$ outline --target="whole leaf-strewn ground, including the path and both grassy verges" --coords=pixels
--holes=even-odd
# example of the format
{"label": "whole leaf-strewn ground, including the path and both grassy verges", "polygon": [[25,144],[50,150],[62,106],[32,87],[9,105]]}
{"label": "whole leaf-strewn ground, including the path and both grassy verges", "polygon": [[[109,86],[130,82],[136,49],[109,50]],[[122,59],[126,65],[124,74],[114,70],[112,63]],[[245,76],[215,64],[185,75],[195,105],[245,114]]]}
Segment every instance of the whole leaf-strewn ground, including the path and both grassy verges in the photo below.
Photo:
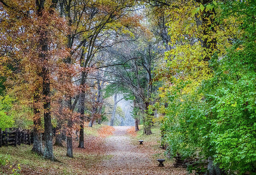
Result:
{"label": "whole leaf-strewn ground, including the path and both grassy verges", "polygon": [[[54,146],[54,155],[61,161],[45,160],[31,152],[32,146],[21,145],[0,148],[0,174],[93,174],[93,175],[185,175],[183,168],[175,168],[171,160],[158,167],[157,158],[163,158],[159,146],[159,129],[153,128],[151,136],[128,134],[129,127],[94,125],[85,128],[85,149],[77,148],[74,141],[74,158],[66,156],[66,147]],[[131,130],[131,129],[130,129]],[[156,137],[157,136],[157,137]],[[144,144],[138,144],[138,138]],[[7,160],[2,163],[1,160]],[[3,164],[3,165],[1,165]],[[5,165],[6,164],[6,165]],[[21,170],[18,165],[20,164]],[[12,172],[13,171],[13,172]]]}

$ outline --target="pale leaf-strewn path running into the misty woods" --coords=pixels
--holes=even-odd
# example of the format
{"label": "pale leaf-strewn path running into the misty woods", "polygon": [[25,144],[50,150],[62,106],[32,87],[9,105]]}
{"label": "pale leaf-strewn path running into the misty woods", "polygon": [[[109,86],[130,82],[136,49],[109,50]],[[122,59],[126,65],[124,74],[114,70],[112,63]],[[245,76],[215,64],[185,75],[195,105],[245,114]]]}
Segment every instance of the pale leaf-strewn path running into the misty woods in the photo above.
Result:
{"label": "pale leaf-strewn path running into the misty woods", "polygon": [[[112,136],[106,138],[106,147],[109,151],[106,155],[111,158],[103,160],[94,166],[94,174],[137,175],[137,174],[186,174],[184,169],[173,166],[158,167],[157,160],[153,160],[150,154],[141,152],[131,143],[127,135],[127,126],[116,126]],[[142,145],[143,146],[143,145]]]}

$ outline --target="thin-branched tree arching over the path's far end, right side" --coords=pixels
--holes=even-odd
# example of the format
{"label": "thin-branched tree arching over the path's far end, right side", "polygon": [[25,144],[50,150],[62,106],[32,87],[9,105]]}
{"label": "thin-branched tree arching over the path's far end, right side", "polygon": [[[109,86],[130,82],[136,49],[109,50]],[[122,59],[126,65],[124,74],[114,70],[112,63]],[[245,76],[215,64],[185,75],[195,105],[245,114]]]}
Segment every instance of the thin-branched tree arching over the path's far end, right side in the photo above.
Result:
{"label": "thin-branched tree arching over the path's far end, right side", "polygon": [[153,87],[153,67],[156,60],[162,57],[162,52],[159,52],[155,38],[140,32],[136,33],[135,41],[123,42],[106,50],[114,58],[113,66],[106,70],[106,81],[126,87],[127,92],[138,99],[136,104],[143,116],[144,134],[151,134],[153,112],[149,106],[152,105],[151,94],[156,90]]}

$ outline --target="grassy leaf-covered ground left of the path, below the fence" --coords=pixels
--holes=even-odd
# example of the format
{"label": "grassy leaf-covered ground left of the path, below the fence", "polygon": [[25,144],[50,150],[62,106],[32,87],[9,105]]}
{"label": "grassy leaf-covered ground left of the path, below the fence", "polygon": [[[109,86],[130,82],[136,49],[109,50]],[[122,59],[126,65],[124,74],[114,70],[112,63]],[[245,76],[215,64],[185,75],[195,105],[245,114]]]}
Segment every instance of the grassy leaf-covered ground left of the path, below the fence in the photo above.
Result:
{"label": "grassy leaf-covered ground left of the path, below the fence", "polygon": [[[17,147],[2,147],[0,148],[0,174],[15,174],[15,172],[21,174],[86,174],[96,163],[111,158],[104,155],[106,151],[104,139],[99,137],[104,133],[105,128],[109,130],[106,125],[85,128],[85,149],[77,148],[78,142],[74,141],[74,158],[66,156],[66,147],[54,146],[54,156],[61,163],[45,160],[32,153],[32,146],[22,144]],[[3,165],[1,165],[1,160],[4,160]]]}

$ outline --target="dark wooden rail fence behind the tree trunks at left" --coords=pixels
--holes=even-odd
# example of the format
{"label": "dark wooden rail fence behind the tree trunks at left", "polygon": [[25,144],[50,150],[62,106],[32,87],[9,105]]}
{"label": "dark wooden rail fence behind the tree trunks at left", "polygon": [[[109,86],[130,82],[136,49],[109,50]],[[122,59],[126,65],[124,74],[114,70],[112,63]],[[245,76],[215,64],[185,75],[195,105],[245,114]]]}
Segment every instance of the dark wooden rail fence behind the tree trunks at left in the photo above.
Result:
{"label": "dark wooden rail fence behind the tree trunks at left", "polygon": [[[53,136],[56,129],[53,128]],[[44,133],[42,133],[44,140]],[[34,143],[34,132],[21,128],[6,128],[4,131],[0,129],[0,147],[2,146],[17,146],[22,144],[31,145]]]}

